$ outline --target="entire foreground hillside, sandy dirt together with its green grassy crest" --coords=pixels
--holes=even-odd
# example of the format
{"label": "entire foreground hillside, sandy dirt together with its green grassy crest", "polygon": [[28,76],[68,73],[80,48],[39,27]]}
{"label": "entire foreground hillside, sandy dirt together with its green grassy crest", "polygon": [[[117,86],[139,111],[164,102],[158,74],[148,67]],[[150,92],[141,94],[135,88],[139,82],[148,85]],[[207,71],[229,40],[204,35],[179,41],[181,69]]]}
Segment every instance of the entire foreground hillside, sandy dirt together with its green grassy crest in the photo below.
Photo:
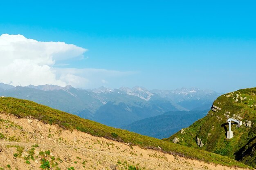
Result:
{"label": "entire foreground hillside, sandy dirt together with its green grassy crest", "polygon": [[218,154],[107,127],[31,101],[0,98],[0,120],[2,169],[250,168]]}

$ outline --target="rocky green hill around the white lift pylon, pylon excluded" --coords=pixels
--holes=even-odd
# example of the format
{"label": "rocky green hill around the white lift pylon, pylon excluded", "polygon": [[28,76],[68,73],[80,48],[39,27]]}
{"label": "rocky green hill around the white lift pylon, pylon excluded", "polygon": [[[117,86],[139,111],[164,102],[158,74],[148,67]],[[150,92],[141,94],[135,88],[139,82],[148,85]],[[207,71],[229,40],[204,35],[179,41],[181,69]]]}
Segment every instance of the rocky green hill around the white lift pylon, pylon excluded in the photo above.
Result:
{"label": "rocky green hill around the white lift pylon, pylon excluded", "polygon": [[[240,128],[236,128],[237,123],[232,123],[232,139],[226,137],[229,118],[243,121]],[[207,116],[184,132],[177,132],[164,140],[172,141],[174,137],[180,139],[181,145],[201,147],[202,150],[228,156],[256,168],[256,88],[241,89],[218,97]]]}

